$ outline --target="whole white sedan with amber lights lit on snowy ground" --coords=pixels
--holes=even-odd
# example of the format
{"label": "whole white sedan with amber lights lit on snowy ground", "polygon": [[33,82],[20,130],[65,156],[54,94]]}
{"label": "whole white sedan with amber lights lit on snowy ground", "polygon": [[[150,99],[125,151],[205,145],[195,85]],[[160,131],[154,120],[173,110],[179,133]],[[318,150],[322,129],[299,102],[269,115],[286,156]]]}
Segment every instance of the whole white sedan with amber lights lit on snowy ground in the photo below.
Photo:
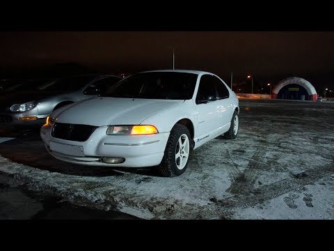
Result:
{"label": "whole white sedan with amber lights lit on snowy ground", "polygon": [[239,100],[212,73],[137,73],[103,96],[56,109],[40,136],[55,158],[81,165],[159,166],[179,176],[191,151],[218,135],[235,139]]}

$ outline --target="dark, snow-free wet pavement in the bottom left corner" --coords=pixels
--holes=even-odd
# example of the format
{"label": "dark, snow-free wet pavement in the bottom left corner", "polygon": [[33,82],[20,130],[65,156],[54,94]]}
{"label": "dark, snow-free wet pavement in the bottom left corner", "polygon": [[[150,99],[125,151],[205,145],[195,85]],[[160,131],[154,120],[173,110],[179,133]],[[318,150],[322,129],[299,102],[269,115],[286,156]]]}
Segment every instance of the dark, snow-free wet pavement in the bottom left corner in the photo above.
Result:
{"label": "dark, snow-free wet pavement in the bottom left corner", "polygon": [[61,197],[26,189],[24,183],[0,173],[0,220],[136,220],[116,211],[77,206]]}

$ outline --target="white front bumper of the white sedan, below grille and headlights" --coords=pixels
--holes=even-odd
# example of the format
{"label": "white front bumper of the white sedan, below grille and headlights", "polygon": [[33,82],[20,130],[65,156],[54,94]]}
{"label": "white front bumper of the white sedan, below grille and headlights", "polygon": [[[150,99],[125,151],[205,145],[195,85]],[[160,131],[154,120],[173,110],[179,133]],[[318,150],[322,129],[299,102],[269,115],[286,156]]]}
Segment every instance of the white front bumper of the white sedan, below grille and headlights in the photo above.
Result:
{"label": "white front bumper of the white sedan, below grille and headlights", "polygon": [[[86,142],[74,142],[52,137],[51,126],[45,125],[40,129],[40,137],[54,158],[74,164],[109,167],[152,167],[160,164],[169,132],[154,135],[106,135],[107,128],[97,128]],[[110,164],[103,162],[103,157],[125,158],[125,162]]]}

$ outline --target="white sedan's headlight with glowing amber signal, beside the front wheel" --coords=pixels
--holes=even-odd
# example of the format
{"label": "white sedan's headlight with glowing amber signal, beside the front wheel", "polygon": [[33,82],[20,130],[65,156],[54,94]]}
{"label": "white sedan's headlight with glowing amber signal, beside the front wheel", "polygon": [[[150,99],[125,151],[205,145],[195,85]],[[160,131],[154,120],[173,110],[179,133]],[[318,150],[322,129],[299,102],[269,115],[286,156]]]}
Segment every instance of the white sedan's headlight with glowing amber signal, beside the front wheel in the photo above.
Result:
{"label": "white sedan's headlight with glowing amber signal, beside the front wheel", "polygon": [[107,135],[150,135],[158,133],[157,128],[150,125],[144,126],[109,126]]}

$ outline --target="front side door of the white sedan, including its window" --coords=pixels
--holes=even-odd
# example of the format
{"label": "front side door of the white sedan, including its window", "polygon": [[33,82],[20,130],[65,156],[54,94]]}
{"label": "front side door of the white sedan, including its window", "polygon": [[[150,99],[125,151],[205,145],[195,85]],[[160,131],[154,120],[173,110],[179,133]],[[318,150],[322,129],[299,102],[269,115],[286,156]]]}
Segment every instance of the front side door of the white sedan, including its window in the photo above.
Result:
{"label": "front side door of the white sedan, including its window", "polygon": [[219,104],[216,100],[216,88],[211,75],[202,75],[196,95],[196,110],[198,112],[198,125],[195,142],[200,145],[216,137],[220,120],[218,118]]}

